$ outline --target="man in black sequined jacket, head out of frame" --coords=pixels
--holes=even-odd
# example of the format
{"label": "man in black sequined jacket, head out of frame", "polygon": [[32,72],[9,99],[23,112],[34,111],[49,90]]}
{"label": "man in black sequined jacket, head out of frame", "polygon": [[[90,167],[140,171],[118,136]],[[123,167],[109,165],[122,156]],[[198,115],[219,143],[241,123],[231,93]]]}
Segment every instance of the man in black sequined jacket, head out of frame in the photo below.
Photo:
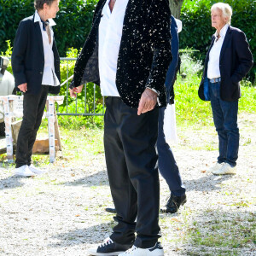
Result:
{"label": "man in black sequined jacket, head out of frame", "polygon": [[168,0],[100,0],[76,62],[71,96],[87,82],[107,96],[104,147],[118,222],[91,255],[122,255],[132,246],[132,255],[164,254],[155,143],[172,61],[170,18]]}

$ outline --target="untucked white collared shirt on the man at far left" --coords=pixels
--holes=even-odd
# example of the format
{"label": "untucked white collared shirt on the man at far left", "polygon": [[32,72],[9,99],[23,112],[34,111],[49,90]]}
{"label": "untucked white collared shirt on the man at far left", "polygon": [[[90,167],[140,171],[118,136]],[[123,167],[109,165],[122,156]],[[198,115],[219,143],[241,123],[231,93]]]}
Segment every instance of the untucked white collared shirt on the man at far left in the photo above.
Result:
{"label": "untucked white collared shirt on the man at far left", "polygon": [[49,44],[48,34],[43,29],[43,23],[41,22],[41,18],[38,15],[37,11],[35,13],[34,22],[39,22],[39,26],[41,28],[41,33],[42,33],[43,46],[44,46],[44,73],[43,73],[42,84],[51,85],[51,86],[60,85],[60,81],[55,74],[55,57],[52,50],[54,32],[51,26],[55,26],[56,23],[54,20],[49,19],[49,31],[50,31],[50,44]]}

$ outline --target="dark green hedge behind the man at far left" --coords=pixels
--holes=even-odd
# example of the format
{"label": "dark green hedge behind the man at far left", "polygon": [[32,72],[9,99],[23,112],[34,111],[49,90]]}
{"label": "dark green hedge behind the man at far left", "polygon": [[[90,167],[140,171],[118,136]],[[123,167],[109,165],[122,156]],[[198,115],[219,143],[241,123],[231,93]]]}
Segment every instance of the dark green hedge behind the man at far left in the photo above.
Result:
{"label": "dark green hedge behind the man at far left", "polygon": [[[97,0],[61,0],[55,22],[55,39],[61,56],[67,49],[80,49],[90,31]],[[32,0],[0,0],[0,52],[7,49],[6,40],[13,44],[20,20],[34,13]]]}

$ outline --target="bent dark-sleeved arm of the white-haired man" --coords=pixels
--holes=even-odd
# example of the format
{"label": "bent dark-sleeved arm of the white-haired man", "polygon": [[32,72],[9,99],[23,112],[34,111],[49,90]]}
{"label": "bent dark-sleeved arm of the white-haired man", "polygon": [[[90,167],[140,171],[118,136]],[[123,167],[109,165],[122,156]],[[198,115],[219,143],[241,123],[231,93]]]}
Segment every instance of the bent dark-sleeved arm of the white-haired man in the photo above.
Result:
{"label": "bent dark-sleeved arm of the white-haired man", "polygon": [[241,81],[253,67],[253,55],[249,49],[247,38],[243,32],[236,32],[235,49],[239,59],[239,65],[231,76],[231,80],[235,83]]}

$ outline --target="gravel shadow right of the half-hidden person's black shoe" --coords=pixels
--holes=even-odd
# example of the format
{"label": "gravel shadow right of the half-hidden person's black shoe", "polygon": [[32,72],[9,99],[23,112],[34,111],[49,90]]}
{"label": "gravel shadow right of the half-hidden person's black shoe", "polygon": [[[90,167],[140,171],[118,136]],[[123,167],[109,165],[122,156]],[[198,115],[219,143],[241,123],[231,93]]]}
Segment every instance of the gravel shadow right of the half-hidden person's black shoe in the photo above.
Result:
{"label": "gravel shadow right of the half-hidden person's black shoe", "polygon": [[219,184],[232,177],[232,175],[215,176],[210,174],[198,179],[183,180],[183,183],[187,191],[212,191],[220,190]]}

